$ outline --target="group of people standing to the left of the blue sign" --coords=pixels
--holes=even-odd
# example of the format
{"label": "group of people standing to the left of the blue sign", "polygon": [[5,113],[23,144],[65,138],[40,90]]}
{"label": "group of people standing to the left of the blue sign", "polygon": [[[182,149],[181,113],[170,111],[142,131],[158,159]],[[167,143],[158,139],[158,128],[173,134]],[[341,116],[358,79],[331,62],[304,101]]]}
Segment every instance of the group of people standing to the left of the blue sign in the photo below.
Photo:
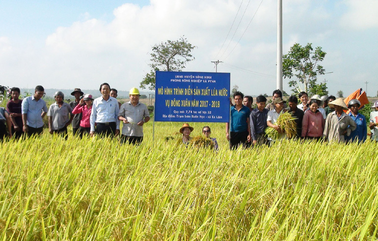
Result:
{"label": "group of people standing to the left of the blue sign", "polygon": [[[64,94],[57,91],[55,102],[47,109],[42,99],[45,89],[38,85],[34,94],[20,100],[20,89],[11,89],[11,99],[6,109],[0,107],[0,139],[9,135],[20,138],[24,135],[43,133],[43,118],[47,114],[50,134],[60,134],[67,139],[67,127],[72,125],[73,135],[93,136],[95,133],[104,136],[120,134],[120,121],[123,122],[121,142],[139,144],[143,141],[143,124],[150,120],[147,106],[139,102],[140,93],[132,88],[130,101],[121,105],[116,99],[117,90],[111,89],[108,83],[100,86],[101,97],[93,99],[76,88],[71,95],[75,100],[64,102]],[[8,127],[8,132],[6,126]]]}

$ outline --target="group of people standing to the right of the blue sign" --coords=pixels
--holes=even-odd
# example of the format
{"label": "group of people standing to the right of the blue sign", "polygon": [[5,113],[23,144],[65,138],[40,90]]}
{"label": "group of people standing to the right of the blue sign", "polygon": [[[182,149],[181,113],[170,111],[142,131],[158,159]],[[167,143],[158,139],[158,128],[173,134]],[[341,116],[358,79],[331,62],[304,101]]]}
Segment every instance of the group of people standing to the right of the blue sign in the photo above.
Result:
{"label": "group of people standing to the right of the blue sign", "polygon": [[[265,133],[267,127],[275,129],[280,139],[286,138],[284,128],[277,124],[278,117],[285,112],[295,117],[296,138],[329,142],[364,142],[367,138],[366,119],[358,112],[361,103],[356,99],[346,105],[342,98],[319,95],[309,98],[306,92],[300,92],[298,97],[290,96],[286,106],[282,92],[274,90],[272,103],[266,105],[267,98],[260,95],[256,98],[257,107],[252,109],[253,99],[250,96],[237,91],[233,97],[235,105],[231,104],[230,123],[226,124],[230,149],[240,145],[269,145],[277,141]],[[372,108],[375,109],[370,115],[369,128],[371,138],[378,141],[378,101]],[[349,110],[349,113],[344,110]]]}

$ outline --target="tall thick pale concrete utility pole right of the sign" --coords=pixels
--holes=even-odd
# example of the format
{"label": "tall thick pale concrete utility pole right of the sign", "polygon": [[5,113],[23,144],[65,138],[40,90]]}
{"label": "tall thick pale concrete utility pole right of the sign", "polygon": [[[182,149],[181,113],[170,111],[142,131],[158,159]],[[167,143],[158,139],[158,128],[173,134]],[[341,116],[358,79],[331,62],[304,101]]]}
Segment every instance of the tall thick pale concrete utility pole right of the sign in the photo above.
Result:
{"label": "tall thick pale concrete utility pole right of the sign", "polygon": [[282,90],[282,0],[277,0],[277,89]]}

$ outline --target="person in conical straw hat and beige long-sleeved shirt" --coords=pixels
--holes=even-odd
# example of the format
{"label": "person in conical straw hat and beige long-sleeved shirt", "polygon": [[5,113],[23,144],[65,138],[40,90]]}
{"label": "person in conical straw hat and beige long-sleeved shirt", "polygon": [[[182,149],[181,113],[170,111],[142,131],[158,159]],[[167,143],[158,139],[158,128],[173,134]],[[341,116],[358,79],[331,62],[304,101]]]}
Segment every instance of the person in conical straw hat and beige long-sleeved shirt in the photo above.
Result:
{"label": "person in conical straw hat and beige long-sleeved shirt", "polygon": [[345,142],[345,136],[349,136],[356,129],[356,123],[343,110],[348,110],[343,99],[339,98],[328,103],[335,111],[329,113],[325,120],[323,136],[329,142]]}

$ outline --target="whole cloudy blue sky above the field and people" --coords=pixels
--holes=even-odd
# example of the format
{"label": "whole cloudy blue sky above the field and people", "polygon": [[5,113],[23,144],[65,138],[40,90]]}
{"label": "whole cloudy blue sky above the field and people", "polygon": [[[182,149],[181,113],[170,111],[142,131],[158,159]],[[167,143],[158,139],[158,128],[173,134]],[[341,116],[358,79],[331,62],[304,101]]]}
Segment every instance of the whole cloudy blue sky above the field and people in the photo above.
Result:
{"label": "whole cloudy blue sky above the field and people", "polygon": [[[224,63],[218,71],[231,73],[231,86],[238,85],[244,94],[271,94],[276,81],[276,4],[276,0],[0,1],[0,84],[97,89],[107,81],[128,90],[149,72],[151,46],[184,35],[197,46],[195,60],[184,71],[215,71],[211,61],[219,59]],[[376,95],[376,9],[377,0],[284,0],[283,53],[296,42],[321,46],[327,53],[322,65],[333,73],[319,80],[327,81],[331,94],[365,89],[368,81],[368,95]],[[286,83],[284,90],[290,93]]]}

